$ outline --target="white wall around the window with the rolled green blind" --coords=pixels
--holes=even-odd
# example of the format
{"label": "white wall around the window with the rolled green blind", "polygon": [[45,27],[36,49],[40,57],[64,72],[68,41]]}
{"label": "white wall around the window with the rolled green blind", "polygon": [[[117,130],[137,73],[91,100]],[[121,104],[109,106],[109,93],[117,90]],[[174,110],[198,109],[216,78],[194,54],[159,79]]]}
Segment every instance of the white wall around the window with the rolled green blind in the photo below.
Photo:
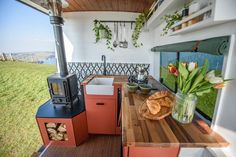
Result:
{"label": "white wall around the window with the rolled green blind", "polygon": [[[236,79],[236,21],[231,21],[228,23],[215,25],[212,27],[204,28],[202,30],[189,32],[182,35],[176,36],[161,36],[162,29],[165,23],[162,23],[159,27],[157,27],[154,31],[154,39],[152,46],[157,45],[165,45],[171,43],[178,43],[184,41],[191,40],[201,40],[212,37],[219,37],[230,35],[231,36],[231,47],[229,53],[225,56],[227,59],[225,61],[225,66],[223,68],[223,75],[225,79]],[[159,63],[160,57],[159,53],[156,52],[154,55],[154,67],[155,69],[160,69]],[[159,71],[154,70],[154,76],[157,78],[159,76]],[[235,157],[236,154],[236,81],[232,81],[229,83],[224,89],[219,92],[220,97],[218,97],[216,104],[215,116],[213,117],[213,125],[212,128],[218,132],[221,136],[223,136],[229,143],[228,148],[222,149],[211,149],[209,148],[209,152],[212,152],[213,156],[223,157],[226,155],[227,157]],[[195,153],[192,156],[202,156],[205,157],[207,151],[200,149],[186,149],[181,148],[180,156],[181,157],[189,157],[191,153]]]}

